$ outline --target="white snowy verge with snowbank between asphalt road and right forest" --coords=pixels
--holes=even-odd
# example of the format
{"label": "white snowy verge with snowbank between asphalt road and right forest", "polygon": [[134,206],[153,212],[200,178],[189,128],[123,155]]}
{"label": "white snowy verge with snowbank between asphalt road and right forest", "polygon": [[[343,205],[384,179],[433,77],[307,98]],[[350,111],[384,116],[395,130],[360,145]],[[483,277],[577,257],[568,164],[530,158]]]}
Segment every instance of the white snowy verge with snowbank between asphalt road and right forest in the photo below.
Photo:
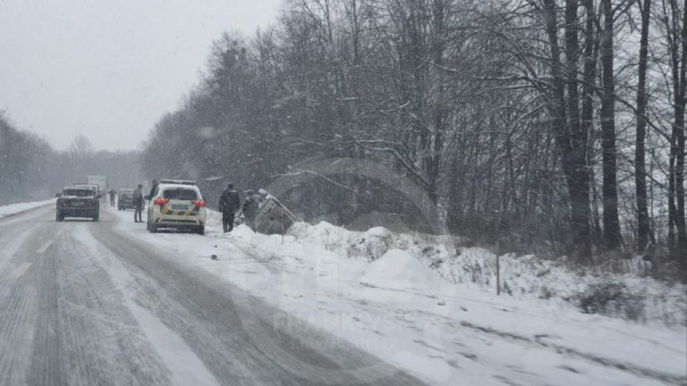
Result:
{"label": "white snowy verge with snowbank between asphalt road and right forest", "polygon": [[[460,259],[450,260],[454,246],[446,240],[327,223],[297,224],[284,238],[245,226],[223,234],[215,213],[205,237],[149,234],[131,212],[115,215],[117,229],[170,251],[170,259],[249,290],[431,384],[687,382],[683,288],[628,276],[652,301],[668,298],[657,309],[674,313],[667,320],[675,323],[658,317],[635,323],[581,313],[561,296],[572,296],[588,279],[533,257],[504,257],[512,295],[499,297],[489,272],[492,255],[458,248]],[[555,296],[541,296],[544,287]],[[274,323],[288,328],[293,321]]]}

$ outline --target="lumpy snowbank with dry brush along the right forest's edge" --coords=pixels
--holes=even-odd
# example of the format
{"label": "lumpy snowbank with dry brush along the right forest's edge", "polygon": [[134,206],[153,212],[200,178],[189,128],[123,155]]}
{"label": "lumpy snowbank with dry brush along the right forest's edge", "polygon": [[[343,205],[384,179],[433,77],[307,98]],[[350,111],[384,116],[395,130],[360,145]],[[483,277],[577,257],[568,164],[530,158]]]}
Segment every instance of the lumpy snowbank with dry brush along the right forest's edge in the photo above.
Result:
{"label": "lumpy snowbank with dry brush along the right forest's edge", "polygon": [[[288,234],[300,243],[368,261],[377,260],[391,249],[401,249],[420,262],[422,268],[436,271],[446,283],[496,291],[496,254],[484,248],[466,247],[468,240],[461,237],[394,233],[382,227],[348,231],[327,222],[298,222]],[[501,286],[507,297],[550,299],[590,314],[681,330],[687,326],[684,284],[637,274],[573,270],[563,260],[533,255],[511,253],[498,257]],[[624,264],[628,265],[628,272],[641,272],[646,268],[642,264],[647,263],[635,259]],[[420,270],[420,266],[412,265]]]}

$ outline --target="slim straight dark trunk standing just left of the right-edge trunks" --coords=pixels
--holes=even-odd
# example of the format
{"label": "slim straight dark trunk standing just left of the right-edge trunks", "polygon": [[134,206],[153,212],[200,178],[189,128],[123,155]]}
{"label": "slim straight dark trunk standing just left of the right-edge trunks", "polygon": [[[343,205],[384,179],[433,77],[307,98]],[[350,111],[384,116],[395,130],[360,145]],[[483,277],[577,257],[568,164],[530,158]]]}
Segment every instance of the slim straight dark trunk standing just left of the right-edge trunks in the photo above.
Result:
{"label": "slim straight dark trunk standing just left of the right-edge trunks", "polygon": [[647,205],[647,169],[644,141],[647,130],[647,56],[649,54],[649,19],[651,0],[641,4],[641,38],[639,83],[637,85],[637,132],[634,148],[634,184],[637,195],[637,250],[643,251],[649,243],[649,207]]}

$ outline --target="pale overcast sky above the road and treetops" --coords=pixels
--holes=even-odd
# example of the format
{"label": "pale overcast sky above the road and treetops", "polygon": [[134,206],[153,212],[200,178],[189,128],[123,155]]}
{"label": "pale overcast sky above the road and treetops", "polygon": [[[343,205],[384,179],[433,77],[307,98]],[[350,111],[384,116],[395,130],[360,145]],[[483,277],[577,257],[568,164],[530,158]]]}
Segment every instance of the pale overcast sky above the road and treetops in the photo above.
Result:
{"label": "pale overcast sky above the road and treetops", "polygon": [[199,79],[212,40],[281,0],[0,0],[0,109],[65,148],[140,147]]}

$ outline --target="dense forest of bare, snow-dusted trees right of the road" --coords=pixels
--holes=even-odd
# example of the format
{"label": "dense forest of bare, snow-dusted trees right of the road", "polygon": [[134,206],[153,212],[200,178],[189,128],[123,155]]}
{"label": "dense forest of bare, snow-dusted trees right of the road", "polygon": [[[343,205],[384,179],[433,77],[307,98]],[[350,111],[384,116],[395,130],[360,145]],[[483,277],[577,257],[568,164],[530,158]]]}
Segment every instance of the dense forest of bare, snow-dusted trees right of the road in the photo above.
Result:
{"label": "dense forest of bare, snow-dusted trees right of the road", "polygon": [[[682,0],[286,0],[272,27],[218,37],[143,164],[256,188],[369,160],[476,242],[685,266],[686,68]],[[413,217],[351,172],[283,198],[306,220]]]}

